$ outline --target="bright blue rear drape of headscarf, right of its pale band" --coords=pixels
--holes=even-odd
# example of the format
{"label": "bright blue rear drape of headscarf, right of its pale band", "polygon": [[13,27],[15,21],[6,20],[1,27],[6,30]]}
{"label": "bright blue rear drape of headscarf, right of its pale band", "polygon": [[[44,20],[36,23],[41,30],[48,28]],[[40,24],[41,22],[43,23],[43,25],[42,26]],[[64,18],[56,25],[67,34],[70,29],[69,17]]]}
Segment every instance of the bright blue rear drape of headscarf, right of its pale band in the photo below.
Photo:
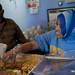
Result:
{"label": "bright blue rear drape of headscarf, right of its pale band", "polygon": [[74,27],[75,27],[75,11],[74,10],[70,10],[68,11],[70,14],[69,14],[69,17],[68,17],[68,23],[66,22],[66,35],[65,37],[69,37],[71,32],[73,31]]}

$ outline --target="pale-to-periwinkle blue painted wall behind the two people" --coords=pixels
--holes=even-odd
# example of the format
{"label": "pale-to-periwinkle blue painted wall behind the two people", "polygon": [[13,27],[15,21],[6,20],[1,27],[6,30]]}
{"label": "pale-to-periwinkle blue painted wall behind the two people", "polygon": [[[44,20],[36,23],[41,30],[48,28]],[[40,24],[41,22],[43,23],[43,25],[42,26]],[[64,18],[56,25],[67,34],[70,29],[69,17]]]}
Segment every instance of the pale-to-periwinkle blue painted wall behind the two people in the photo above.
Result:
{"label": "pale-to-periwinkle blue painted wall behind the two people", "polygon": [[59,7],[58,0],[40,0],[39,12],[37,14],[30,14],[27,12],[25,0],[16,0],[16,6],[14,3],[10,4],[9,0],[1,0],[1,3],[5,9],[5,16],[14,19],[23,31],[33,25],[47,26],[47,9],[75,6],[75,3],[64,3]]}

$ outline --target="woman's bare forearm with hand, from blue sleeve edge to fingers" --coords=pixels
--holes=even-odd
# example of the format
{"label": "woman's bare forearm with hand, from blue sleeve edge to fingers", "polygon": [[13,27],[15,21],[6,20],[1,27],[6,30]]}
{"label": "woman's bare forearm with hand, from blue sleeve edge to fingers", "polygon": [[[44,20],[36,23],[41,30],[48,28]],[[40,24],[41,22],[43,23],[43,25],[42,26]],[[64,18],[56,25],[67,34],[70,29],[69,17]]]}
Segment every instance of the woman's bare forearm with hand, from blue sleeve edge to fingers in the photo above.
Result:
{"label": "woman's bare forearm with hand, from blue sleeve edge to fingers", "polygon": [[5,57],[7,56],[12,56],[13,54],[17,54],[18,52],[29,52],[32,51],[34,49],[38,49],[38,44],[33,40],[27,43],[22,44],[19,48],[14,48],[11,49],[10,51],[8,51],[7,53],[5,53]]}

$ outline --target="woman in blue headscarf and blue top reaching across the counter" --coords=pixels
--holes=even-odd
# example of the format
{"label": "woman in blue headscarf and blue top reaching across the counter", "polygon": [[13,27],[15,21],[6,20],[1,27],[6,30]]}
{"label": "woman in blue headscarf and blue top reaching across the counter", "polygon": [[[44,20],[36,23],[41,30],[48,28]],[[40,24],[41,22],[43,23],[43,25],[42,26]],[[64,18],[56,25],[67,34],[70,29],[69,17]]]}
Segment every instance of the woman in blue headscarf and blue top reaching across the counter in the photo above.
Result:
{"label": "woman in blue headscarf and blue top reaching across the counter", "polygon": [[34,52],[35,49],[38,49],[45,54],[64,56],[65,51],[75,50],[74,19],[75,11],[73,10],[58,14],[55,30],[36,36],[33,41],[11,50],[6,55],[19,51]]}

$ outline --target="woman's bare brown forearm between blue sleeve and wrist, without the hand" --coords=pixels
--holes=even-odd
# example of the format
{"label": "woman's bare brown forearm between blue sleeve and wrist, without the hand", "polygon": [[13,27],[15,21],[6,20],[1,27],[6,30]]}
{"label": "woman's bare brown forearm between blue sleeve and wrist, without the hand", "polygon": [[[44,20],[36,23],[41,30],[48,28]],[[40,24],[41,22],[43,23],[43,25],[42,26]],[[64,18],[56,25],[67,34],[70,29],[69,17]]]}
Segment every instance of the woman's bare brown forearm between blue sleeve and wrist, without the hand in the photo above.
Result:
{"label": "woman's bare brown forearm between blue sleeve and wrist, without the hand", "polygon": [[36,41],[30,41],[27,43],[22,44],[19,48],[17,49],[13,49],[13,52],[18,53],[18,52],[29,52],[35,49],[38,49],[38,44],[36,43]]}

